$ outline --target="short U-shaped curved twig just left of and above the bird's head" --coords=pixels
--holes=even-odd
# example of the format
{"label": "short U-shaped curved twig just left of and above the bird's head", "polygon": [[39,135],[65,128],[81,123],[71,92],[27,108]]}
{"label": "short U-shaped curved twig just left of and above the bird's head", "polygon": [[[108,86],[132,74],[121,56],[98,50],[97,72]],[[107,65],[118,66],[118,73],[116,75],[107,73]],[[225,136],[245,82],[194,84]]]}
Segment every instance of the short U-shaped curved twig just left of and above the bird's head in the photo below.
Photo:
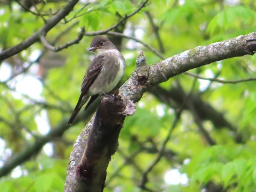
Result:
{"label": "short U-shaped curved twig just left of and above the bird's head", "polygon": [[44,44],[44,47],[46,47],[47,49],[50,49],[53,52],[58,52],[62,49],[66,49],[70,45],[78,44],[81,41],[81,39],[84,37],[84,33],[85,33],[85,30],[84,30],[84,27],[82,27],[81,32],[79,32],[79,35],[76,39],[74,39],[73,41],[68,41],[66,44],[60,45],[58,47],[54,47],[51,44],[49,44],[45,38],[45,34],[41,35],[40,40],[41,40],[42,44]]}

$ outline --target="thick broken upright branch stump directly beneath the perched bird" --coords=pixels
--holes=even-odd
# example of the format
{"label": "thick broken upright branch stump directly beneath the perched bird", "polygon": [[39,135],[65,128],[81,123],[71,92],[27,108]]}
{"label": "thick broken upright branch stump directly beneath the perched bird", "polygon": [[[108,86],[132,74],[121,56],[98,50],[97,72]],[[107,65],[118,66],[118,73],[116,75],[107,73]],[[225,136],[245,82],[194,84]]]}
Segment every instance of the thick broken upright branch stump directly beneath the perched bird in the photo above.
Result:
{"label": "thick broken upright branch stump directly beneath the perched bird", "polygon": [[74,145],[65,192],[103,191],[108,163],[118,148],[125,116],[134,112],[131,101],[116,95],[102,96],[96,115]]}

